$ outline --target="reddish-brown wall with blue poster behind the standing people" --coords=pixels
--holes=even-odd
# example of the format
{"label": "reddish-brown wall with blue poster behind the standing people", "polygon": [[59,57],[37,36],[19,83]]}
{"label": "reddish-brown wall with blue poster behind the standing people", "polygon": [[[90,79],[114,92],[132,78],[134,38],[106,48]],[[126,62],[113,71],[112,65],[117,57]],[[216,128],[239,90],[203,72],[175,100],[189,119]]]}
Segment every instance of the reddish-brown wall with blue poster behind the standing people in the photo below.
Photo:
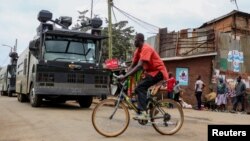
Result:
{"label": "reddish-brown wall with blue poster behind the standing people", "polygon": [[205,94],[210,93],[210,82],[212,77],[212,59],[213,56],[165,61],[165,65],[169,72],[176,75],[176,68],[188,68],[188,86],[182,86],[184,89],[183,99],[189,104],[195,105],[196,98],[194,95],[195,81],[198,75],[201,75],[201,80],[205,83],[203,98]]}

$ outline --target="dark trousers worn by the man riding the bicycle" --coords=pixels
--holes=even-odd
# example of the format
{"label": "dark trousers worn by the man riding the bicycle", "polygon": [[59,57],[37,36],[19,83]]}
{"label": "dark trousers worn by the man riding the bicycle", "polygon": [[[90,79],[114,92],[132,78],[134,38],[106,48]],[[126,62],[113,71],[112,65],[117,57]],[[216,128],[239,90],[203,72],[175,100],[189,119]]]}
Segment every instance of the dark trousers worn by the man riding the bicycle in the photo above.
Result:
{"label": "dark trousers worn by the man riding the bicycle", "polygon": [[138,110],[146,111],[147,110],[147,91],[148,88],[157,82],[163,80],[163,75],[161,72],[158,72],[155,77],[151,75],[146,75],[135,88],[135,93],[138,94]]}

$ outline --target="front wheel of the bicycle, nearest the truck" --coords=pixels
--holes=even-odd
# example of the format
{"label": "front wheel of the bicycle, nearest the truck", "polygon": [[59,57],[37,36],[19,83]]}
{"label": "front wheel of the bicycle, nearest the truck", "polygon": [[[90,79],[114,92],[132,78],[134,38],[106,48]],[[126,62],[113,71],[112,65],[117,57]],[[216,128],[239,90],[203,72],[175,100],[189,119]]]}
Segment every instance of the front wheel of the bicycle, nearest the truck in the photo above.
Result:
{"label": "front wheel of the bicycle, nearest the truck", "polygon": [[96,105],[92,113],[95,130],[106,137],[122,134],[129,124],[128,108],[121,102],[116,109],[117,100],[106,99]]}

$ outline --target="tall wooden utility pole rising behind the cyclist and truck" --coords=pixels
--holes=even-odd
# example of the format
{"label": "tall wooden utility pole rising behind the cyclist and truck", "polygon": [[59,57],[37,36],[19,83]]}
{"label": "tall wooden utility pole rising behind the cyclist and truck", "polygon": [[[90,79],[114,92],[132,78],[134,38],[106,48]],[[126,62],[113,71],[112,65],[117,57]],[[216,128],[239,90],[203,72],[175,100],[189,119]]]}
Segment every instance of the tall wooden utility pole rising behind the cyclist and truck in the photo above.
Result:
{"label": "tall wooden utility pole rising behind the cyclist and truck", "polygon": [[113,5],[113,0],[108,0],[108,33],[109,33],[109,59],[112,58],[112,17],[111,17],[111,6]]}

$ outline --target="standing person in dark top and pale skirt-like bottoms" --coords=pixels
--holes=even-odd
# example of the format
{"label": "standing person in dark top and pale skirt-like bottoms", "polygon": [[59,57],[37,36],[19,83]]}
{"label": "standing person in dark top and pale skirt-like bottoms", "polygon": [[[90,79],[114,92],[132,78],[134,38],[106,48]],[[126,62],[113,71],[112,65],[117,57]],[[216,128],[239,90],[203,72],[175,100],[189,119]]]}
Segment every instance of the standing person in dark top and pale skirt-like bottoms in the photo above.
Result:
{"label": "standing person in dark top and pale skirt-like bottoms", "polygon": [[226,110],[226,104],[227,104],[227,87],[226,84],[224,83],[222,78],[219,78],[219,82],[217,85],[217,94],[216,94],[216,99],[215,103],[218,105],[218,110],[219,111],[225,111]]}

